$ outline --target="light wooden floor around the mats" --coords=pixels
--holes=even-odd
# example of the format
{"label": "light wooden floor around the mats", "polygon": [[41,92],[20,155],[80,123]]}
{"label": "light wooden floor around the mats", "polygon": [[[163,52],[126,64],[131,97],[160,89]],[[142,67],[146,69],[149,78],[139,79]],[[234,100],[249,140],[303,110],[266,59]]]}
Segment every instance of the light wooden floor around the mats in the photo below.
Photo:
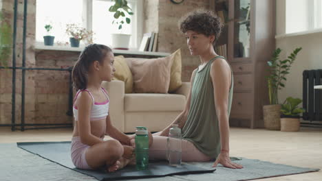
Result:
{"label": "light wooden floor around the mats", "polygon": [[[0,128],[0,143],[70,141],[71,135],[71,129],[11,132],[10,128]],[[322,129],[279,132],[231,128],[230,156],[322,169]],[[322,180],[322,171],[261,180]]]}

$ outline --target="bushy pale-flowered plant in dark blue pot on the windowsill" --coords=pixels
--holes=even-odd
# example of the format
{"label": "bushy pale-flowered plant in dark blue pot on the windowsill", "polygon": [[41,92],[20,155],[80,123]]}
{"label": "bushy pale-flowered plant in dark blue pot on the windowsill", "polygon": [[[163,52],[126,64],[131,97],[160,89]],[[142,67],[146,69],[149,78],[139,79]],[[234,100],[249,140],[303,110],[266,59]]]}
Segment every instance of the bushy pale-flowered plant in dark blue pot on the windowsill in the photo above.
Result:
{"label": "bushy pale-flowered plant in dark blue pot on the windowsill", "polygon": [[81,40],[84,40],[85,44],[93,43],[94,32],[74,23],[66,25],[66,33],[71,47],[79,47]]}

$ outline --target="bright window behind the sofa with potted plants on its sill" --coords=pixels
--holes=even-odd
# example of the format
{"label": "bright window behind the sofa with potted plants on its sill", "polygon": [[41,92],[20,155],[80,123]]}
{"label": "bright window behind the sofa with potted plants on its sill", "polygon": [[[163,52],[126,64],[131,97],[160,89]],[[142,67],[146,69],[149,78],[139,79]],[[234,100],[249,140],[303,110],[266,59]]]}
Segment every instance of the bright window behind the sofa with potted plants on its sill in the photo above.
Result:
{"label": "bright window behind the sofa with potted plants on its sill", "polygon": [[[55,43],[64,44],[69,41],[65,33],[66,25],[76,23],[94,31],[94,43],[111,46],[111,34],[131,34],[130,49],[138,48],[142,37],[142,2],[128,0],[129,6],[134,12],[131,23],[125,23],[121,31],[116,25],[112,25],[113,13],[109,12],[109,6],[114,3],[111,0],[36,0],[36,42],[43,42],[43,36],[47,35],[45,25],[50,23],[55,36]],[[82,41],[81,41],[82,43]]]}

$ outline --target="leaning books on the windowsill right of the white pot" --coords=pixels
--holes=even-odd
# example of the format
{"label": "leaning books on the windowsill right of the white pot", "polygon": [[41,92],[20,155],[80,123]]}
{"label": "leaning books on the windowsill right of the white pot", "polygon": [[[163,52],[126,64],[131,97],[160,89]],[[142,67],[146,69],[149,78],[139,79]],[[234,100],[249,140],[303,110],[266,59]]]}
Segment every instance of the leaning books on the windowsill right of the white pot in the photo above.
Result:
{"label": "leaning books on the windowsill right of the white pot", "polygon": [[158,46],[158,33],[149,32],[143,34],[139,51],[156,51]]}

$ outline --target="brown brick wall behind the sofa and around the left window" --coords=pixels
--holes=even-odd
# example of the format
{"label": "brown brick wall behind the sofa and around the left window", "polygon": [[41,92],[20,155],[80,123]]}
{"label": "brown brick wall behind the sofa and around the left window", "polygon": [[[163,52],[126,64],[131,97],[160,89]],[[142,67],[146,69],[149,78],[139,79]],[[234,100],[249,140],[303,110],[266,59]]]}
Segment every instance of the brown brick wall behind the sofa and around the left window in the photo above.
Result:
{"label": "brown brick wall behind the sofa and around the left window", "polygon": [[[182,80],[189,82],[200,60],[190,56],[186,40],[178,30],[181,16],[197,8],[208,8],[209,0],[184,1],[179,5],[169,0],[144,1],[144,32],[158,32],[158,51],[182,49]],[[6,21],[13,23],[12,0],[2,0]],[[26,67],[66,68],[77,60],[79,52],[42,51],[34,49],[36,0],[28,1]],[[17,20],[17,67],[22,64],[23,0],[19,0]],[[11,58],[8,61],[12,65]],[[26,71],[25,123],[71,123],[68,110],[69,73],[67,71]],[[11,122],[12,70],[0,69],[0,123]],[[16,123],[21,119],[21,70],[16,77]]]}

